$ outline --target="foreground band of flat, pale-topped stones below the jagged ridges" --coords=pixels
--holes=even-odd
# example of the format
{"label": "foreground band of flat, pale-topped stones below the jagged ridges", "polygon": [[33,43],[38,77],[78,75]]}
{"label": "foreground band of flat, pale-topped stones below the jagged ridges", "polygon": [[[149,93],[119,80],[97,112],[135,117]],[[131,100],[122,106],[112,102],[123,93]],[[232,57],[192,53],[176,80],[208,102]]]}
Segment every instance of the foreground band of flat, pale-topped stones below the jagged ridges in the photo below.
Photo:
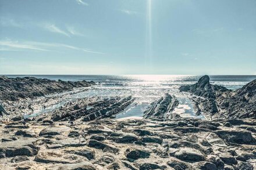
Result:
{"label": "foreground band of flat, pale-topped stones below the jagged ridges", "polygon": [[256,121],[229,122],[30,121],[26,131],[1,122],[0,169],[255,169],[256,133],[246,129]]}

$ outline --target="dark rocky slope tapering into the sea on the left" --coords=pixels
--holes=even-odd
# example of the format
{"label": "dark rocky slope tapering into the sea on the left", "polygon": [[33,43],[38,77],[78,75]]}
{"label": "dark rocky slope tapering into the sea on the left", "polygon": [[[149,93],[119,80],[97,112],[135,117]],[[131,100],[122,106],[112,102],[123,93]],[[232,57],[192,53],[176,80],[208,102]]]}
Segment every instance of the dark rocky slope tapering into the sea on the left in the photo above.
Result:
{"label": "dark rocky slope tapering into the sea on the left", "polygon": [[[33,113],[34,110],[61,102],[66,94],[45,97],[47,95],[72,91],[95,85],[87,81],[54,81],[34,77],[8,78],[0,76],[0,119],[13,118],[16,115]],[[82,91],[83,89],[80,89]],[[0,103],[1,103],[0,102]]]}

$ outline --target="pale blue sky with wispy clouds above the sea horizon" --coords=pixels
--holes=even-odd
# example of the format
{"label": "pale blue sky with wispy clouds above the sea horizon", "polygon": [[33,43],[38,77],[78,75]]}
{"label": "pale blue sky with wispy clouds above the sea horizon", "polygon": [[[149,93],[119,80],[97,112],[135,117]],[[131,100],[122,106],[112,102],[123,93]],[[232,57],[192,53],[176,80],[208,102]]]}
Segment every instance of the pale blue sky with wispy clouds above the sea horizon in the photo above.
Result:
{"label": "pale blue sky with wispy clouds above the sea horizon", "polygon": [[0,0],[0,74],[256,74],[256,1]]}

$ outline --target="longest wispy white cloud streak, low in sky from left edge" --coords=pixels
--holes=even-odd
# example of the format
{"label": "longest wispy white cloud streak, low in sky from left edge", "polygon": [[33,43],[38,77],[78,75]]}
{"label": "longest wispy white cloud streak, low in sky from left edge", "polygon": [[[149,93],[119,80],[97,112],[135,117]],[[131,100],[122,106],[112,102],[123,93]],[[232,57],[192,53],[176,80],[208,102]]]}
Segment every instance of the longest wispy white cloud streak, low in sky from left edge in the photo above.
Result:
{"label": "longest wispy white cloud streak, low in sky from left edge", "polygon": [[18,41],[10,41],[10,40],[0,41],[0,49],[8,50],[8,51],[22,50],[22,49],[40,50],[40,51],[55,51],[58,48],[80,50],[82,52],[94,53],[94,54],[99,54],[99,55],[104,54],[102,52],[96,52],[91,49],[79,48],[77,46],[66,45],[66,44],[34,42],[34,41],[26,41],[26,42],[18,42]]}

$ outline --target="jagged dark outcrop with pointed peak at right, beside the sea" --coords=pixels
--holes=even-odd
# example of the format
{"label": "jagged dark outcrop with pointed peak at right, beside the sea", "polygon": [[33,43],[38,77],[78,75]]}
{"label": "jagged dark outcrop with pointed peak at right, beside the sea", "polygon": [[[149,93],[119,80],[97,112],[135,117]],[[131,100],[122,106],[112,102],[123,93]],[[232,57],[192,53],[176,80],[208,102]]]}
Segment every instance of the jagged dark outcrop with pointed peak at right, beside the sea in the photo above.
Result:
{"label": "jagged dark outcrop with pointed peak at right, beside the sea", "polygon": [[256,118],[256,79],[243,88],[231,91],[209,83],[208,75],[196,84],[180,86],[181,92],[198,96],[195,105],[212,118]]}

